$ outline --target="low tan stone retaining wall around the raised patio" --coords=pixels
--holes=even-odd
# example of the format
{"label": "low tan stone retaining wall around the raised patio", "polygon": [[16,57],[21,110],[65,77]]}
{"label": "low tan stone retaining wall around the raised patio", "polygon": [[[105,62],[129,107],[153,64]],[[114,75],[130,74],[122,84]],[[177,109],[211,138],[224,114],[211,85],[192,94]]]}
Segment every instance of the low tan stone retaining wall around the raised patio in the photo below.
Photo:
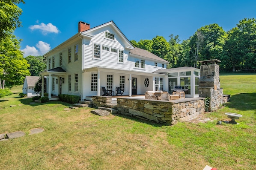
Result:
{"label": "low tan stone retaining wall around the raised patio", "polygon": [[[111,97],[93,96],[94,107],[106,107]],[[188,121],[205,112],[204,98],[189,98],[183,102],[159,101],[137,98],[117,98],[114,107],[120,114],[144,118],[160,124],[172,125]]]}

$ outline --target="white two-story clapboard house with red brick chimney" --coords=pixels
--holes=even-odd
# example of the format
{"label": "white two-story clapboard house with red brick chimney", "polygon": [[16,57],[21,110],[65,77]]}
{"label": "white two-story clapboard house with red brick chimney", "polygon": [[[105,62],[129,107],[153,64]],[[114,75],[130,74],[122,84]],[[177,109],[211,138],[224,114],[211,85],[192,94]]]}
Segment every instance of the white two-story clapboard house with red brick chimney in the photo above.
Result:
{"label": "white two-story clapboard house with red brick chimney", "polygon": [[102,95],[102,86],[120,87],[129,96],[168,90],[168,76],[155,73],[166,69],[168,61],[132,46],[113,21],[94,28],[80,21],[77,34],[44,56],[47,71],[40,75],[47,76],[49,98],[69,94],[86,99]]}

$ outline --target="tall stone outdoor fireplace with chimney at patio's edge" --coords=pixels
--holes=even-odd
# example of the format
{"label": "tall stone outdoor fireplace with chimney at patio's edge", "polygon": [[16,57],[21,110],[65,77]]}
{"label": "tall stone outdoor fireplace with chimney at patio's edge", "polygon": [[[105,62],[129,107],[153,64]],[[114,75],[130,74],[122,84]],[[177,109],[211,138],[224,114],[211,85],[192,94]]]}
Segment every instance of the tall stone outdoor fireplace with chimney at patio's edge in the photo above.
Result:
{"label": "tall stone outdoor fireplace with chimney at patio's edge", "polygon": [[199,97],[210,98],[210,111],[216,110],[223,104],[223,90],[220,88],[220,61],[217,59],[199,61]]}

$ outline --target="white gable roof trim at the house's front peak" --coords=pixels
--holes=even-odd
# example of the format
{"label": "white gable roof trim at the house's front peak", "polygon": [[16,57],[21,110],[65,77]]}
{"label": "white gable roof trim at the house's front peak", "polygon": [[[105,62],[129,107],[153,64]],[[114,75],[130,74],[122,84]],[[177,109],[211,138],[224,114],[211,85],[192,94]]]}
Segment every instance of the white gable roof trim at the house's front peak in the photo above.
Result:
{"label": "white gable roof trim at the house's front peak", "polygon": [[93,27],[91,29],[88,29],[86,31],[83,31],[81,33],[84,36],[91,37],[91,35],[89,35],[88,33],[92,32],[92,31],[94,31],[96,29],[100,29],[102,27],[105,27],[105,26],[112,26],[113,27],[113,29],[119,34],[119,36],[122,38],[122,40],[125,41],[125,44],[126,44],[125,48],[134,49],[134,46],[130,43],[130,41],[127,39],[127,37],[125,37],[125,35],[121,32],[121,30],[116,26],[116,24],[114,23],[113,20],[110,21],[110,22],[101,24],[99,26],[95,26],[95,27]]}

